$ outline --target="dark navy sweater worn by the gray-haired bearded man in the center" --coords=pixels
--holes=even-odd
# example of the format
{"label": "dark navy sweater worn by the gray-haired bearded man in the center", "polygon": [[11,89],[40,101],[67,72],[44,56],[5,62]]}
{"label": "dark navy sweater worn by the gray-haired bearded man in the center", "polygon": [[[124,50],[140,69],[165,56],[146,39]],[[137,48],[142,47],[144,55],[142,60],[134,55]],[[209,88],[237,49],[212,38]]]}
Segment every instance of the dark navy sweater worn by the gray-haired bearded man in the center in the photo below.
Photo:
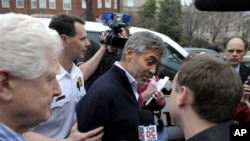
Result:
{"label": "dark navy sweater worn by the gray-haired bearded man in the center", "polygon": [[103,141],[138,141],[140,107],[125,71],[113,65],[76,107],[78,129],[104,126]]}

